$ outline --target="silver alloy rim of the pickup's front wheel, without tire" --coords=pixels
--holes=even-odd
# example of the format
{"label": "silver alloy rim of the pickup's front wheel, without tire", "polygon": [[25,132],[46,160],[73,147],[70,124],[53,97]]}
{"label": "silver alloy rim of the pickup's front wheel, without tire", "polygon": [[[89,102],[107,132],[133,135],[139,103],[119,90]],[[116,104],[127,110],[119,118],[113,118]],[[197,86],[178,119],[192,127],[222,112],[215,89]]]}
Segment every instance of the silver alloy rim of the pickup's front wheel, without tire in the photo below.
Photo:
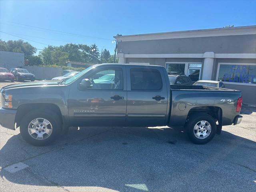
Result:
{"label": "silver alloy rim of the pickup's front wheel, without tire", "polygon": [[52,134],[52,124],[44,118],[36,118],[28,124],[28,133],[37,140],[44,140]]}

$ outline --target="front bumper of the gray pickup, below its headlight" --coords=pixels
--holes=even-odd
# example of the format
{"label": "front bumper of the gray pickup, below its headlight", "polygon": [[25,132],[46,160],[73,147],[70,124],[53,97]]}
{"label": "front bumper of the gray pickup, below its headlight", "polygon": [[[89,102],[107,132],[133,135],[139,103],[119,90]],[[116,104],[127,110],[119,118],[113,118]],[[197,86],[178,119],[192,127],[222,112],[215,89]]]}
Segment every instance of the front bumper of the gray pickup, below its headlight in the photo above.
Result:
{"label": "front bumper of the gray pickup, below its headlight", "polygon": [[4,128],[15,130],[15,115],[17,110],[0,108],[0,124]]}

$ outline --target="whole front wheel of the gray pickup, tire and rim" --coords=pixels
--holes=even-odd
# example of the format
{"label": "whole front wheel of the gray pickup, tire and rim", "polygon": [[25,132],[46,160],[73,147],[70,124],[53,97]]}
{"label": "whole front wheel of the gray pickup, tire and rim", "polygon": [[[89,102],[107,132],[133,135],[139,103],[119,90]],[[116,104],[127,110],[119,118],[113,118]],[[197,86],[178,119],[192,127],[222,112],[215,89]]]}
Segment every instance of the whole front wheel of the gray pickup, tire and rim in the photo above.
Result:
{"label": "whole front wheel of the gray pickup, tire and rim", "polygon": [[20,134],[29,144],[45,146],[56,140],[61,129],[60,117],[50,111],[31,111],[22,118]]}

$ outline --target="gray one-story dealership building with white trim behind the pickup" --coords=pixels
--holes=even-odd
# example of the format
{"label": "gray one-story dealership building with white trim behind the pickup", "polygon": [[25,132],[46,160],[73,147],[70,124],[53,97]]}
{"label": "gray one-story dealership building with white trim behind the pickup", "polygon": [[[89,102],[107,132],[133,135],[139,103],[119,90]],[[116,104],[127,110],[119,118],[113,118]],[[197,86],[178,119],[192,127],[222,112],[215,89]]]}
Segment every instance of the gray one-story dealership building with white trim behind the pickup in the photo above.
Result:
{"label": "gray one-story dealership building with white trim behind the pickup", "polygon": [[256,105],[256,26],[114,36],[119,63],[161,65],[192,81],[222,81]]}

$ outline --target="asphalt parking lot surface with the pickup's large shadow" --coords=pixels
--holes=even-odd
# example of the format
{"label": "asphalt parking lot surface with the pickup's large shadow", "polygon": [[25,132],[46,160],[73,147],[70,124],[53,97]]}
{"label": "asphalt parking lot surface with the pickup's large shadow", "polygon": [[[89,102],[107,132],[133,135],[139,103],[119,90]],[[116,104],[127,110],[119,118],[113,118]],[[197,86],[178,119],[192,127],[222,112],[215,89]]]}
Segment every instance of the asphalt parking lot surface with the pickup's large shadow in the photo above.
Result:
{"label": "asphalt parking lot surface with the pickup's large shadow", "polygon": [[256,108],[241,114],[205,145],[167,127],[73,127],[35,147],[0,127],[0,191],[255,191]]}

